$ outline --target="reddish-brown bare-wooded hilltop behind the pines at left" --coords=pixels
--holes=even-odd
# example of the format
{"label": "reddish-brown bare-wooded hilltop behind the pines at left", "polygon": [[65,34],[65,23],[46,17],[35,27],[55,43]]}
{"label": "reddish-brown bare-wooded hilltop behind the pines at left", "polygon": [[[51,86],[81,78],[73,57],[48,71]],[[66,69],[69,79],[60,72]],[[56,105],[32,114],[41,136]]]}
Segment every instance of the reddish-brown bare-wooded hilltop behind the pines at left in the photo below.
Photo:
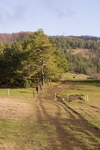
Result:
{"label": "reddish-brown bare-wooded hilltop behind the pines at left", "polygon": [[18,33],[0,33],[0,41],[5,45],[7,41],[13,43],[16,39],[22,40],[27,35],[34,34],[34,32],[18,32]]}

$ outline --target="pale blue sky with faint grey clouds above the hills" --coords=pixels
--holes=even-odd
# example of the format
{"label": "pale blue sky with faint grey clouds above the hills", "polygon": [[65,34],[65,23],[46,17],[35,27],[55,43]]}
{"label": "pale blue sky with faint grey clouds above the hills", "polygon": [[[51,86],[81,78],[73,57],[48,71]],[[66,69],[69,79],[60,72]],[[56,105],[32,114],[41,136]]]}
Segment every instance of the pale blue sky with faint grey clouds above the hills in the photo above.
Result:
{"label": "pale blue sky with faint grey clouds above the hills", "polygon": [[100,37],[100,0],[0,0],[0,33]]}

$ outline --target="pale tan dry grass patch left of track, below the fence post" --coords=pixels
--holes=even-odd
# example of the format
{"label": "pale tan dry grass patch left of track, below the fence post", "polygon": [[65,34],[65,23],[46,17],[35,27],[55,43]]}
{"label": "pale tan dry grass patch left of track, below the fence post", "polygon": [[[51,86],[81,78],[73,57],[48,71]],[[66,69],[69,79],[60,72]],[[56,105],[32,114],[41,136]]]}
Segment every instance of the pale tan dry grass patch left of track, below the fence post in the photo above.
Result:
{"label": "pale tan dry grass patch left of track, below the fence post", "polygon": [[33,107],[28,103],[21,103],[17,99],[0,98],[0,118],[21,119],[33,114]]}

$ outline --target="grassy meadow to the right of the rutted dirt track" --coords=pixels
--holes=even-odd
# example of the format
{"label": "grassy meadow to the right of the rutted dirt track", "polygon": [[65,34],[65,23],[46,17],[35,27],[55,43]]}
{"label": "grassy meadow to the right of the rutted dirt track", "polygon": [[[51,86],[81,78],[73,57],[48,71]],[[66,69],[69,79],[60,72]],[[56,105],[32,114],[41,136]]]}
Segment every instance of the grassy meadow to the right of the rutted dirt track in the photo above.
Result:
{"label": "grassy meadow to the right of the rutted dirt track", "polygon": [[87,77],[72,73],[64,74],[62,81],[64,79],[67,81],[58,96],[66,98],[68,95],[81,95],[81,100],[66,102],[67,105],[100,130],[100,79],[87,79]]}

